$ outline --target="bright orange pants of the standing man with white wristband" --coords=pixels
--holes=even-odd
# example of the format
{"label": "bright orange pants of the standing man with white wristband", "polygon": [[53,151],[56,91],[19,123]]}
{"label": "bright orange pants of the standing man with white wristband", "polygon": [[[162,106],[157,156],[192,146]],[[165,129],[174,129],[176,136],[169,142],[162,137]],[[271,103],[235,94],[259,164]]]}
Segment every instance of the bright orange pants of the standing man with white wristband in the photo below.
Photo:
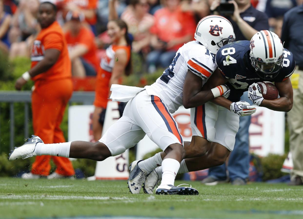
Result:
{"label": "bright orange pants of the standing man with white wristband", "polygon": [[[60,124],[71,95],[71,79],[35,82],[35,90],[32,93],[33,128],[35,135],[39,136],[44,143],[65,142]],[[49,175],[51,158],[57,166],[58,174],[65,176],[75,174],[68,158],[50,155],[37,156],[32,165],[32,173]]]}

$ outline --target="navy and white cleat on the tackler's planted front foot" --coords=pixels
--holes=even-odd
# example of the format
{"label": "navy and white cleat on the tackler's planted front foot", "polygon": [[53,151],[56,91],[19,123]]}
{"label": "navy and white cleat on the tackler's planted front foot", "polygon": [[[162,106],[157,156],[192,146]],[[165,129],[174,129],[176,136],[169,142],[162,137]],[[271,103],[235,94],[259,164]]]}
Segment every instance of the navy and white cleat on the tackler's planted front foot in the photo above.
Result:
{"label": "navy and white cleat on the tackler's planted front foot", "polygon": [[199,195],[199,192],[195,188],[185,186],[180,187],[180,185],[159,185],[156,189],[156,195]]}

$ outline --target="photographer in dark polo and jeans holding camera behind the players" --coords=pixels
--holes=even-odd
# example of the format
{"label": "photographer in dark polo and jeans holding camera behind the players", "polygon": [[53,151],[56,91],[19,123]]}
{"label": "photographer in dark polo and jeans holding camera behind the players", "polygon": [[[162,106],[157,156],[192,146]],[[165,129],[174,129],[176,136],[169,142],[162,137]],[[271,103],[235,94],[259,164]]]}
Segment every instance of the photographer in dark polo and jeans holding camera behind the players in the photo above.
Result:
{"label": "photographer in dark polo and jeans holding camera behind the players", "polygon": [[[223,4],[222,4],[223,3]],[[227,5],[229,3],[232,5]],[[221,4],[221,5],[220,5]],[[211,12],[225,16],[234,27],[236,40],[250,40],[251,37],[261,30],[267,30],[268,18],[265,13],[256,10],[251,6],[250,0],[235,1],[213,1]],[[225,12],[224,14],[220,13]],[[232,12],[233,11],[233,12]],[[227,12],[227,13],[226,13]],[[241,100],[248,101],[247,93]],[[227,171],[229,179],[233,185],[245,185],[249,174],[249,134],[250,117],[240,117],[240,127],[236,135],[235,148],[230,154],[228,166],[212,167],[209,169],[208,177],[202,180],[206,185],[216,185],[220,181],[227,181]]]}

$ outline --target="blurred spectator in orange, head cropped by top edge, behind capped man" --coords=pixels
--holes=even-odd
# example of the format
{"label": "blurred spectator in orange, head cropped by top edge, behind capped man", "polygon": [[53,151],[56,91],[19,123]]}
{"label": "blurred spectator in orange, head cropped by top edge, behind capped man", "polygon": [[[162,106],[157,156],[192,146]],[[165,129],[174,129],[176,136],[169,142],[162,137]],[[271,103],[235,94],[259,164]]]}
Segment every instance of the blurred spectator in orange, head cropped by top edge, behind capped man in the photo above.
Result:
{"label": "blurred spectator in orange, head cropped by top edge, behind capped man", "polygon": [[68,11],[83,13],[85,21],[96,35],[98,0],[59,0],[59,5],[60,3],[63,4],[63,18],[66,17]]}

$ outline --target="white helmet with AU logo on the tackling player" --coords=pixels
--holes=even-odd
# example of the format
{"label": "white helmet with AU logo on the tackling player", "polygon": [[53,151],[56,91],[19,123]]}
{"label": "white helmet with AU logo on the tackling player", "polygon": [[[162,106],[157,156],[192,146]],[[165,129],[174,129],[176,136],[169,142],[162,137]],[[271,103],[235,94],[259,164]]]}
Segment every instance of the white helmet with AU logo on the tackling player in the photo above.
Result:
{"label": "white helmet with AU logo on the tackling player", "polygon": [[195,39],[216,54],[222,46],[235,41],[234,28],[222,16],[206,16],[197,25]]}

